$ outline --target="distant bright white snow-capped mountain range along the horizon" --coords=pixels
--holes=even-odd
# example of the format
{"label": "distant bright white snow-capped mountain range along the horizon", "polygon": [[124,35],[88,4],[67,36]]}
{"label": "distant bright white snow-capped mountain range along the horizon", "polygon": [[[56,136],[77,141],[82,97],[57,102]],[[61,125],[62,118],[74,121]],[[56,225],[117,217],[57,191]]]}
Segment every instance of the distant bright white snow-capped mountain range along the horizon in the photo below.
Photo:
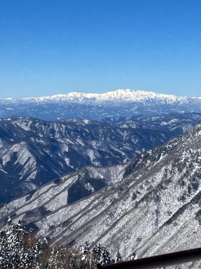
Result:
{"label": "distant bright white snow-capped mountain range along the horizon", "polygon": [[108,116],[201,112],[201,97],[179,97],[119,89],[106,93],[70,92],[45,97],[0,99],[0,117],[21,115],[43,120],[100,119]]}

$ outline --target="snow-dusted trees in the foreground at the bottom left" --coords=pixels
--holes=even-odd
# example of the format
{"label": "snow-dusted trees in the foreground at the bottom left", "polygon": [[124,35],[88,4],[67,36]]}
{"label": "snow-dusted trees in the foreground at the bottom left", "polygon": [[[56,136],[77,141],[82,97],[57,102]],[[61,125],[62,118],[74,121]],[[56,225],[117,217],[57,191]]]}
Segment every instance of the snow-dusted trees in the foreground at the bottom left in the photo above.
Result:
{"label": "snow-dusted trees in the foreground at the bottom left", "polygon": [[[136,253],[129,260],[136,259]],[[38,238],[34,229],[26,231],[19,220],[8,220],[5,231],[0,234],[0,268],[13,269],[89,269],[97,263],[109,264],[122,261],[120,252],[113,259],[100,243],[92,249],[88,242],[76,250]]]}

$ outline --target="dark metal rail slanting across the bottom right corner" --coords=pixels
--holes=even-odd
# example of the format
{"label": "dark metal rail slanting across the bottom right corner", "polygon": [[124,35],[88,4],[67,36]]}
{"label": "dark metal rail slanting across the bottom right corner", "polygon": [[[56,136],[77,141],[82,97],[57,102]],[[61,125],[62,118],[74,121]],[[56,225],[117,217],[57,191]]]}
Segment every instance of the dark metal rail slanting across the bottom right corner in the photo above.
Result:
{"label": "dark metal rail slanting across the bottom right corner", "polygon": [[122,261],[107,265],[97,264],[91,269],[156,269],[201,259],[201,248],[188,249],[158,256]]}

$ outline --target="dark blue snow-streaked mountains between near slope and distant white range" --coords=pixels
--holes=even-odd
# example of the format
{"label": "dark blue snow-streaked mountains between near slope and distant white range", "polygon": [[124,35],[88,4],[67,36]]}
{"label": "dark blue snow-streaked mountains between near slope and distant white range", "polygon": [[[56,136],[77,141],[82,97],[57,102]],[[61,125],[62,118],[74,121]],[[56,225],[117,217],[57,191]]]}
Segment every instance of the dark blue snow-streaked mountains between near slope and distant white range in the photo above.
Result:
{"label": "dark blue snow-streaked mountains between near slope and distant white range", "polygon": [[[110,122],[109,122],[110,121]],[[125,163],[201,122],[201,114],[132,116],[102,121],[0,120],[1,202],[87,165]]]}

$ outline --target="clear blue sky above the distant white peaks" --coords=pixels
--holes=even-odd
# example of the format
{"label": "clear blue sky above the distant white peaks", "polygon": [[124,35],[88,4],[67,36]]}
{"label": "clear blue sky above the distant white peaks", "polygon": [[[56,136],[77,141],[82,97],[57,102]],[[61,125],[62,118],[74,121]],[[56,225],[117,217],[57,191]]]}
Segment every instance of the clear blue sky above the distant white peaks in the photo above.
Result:
{"label": "clear blue sky above the distant white peaks", "polygon": [[200,0],[0,1],[0,98],[201,96]]}

